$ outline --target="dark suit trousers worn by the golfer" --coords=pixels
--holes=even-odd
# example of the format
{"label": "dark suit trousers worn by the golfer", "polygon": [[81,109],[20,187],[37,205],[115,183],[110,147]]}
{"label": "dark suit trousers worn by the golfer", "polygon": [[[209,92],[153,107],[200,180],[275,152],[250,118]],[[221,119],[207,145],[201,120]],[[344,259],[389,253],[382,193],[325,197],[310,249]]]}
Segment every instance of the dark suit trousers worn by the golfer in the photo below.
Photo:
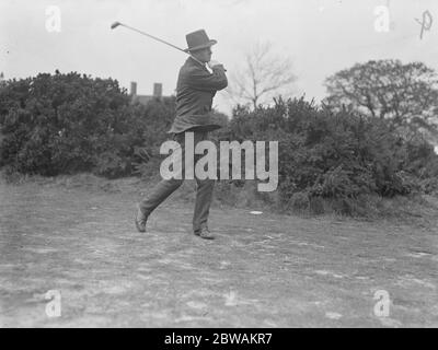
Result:
{"label": "dark suit trousers worn by the golfer", "polygon": [[[197,142],[207,140],[208,132],[204,131],[192,131],[194,132],[194,144]],[[171,178],[162,179],[152,191],[140,202],[140,210],[149,217],[151,212],[160,206],[170,195],[172,195],[183,183],[185,174],[185,133],[176,133],[174,140],[182,147],[182,179]],[[195,154],[195,164],[203,155]],[[193,215],[193,231],[198,232],[201,228],[207,226],[208,214],[210,211],[210,205],[212,199],[212,192],[215,188],[215,179],[199,179],[195,174],[196,179],[196,202],[195,212]]]}

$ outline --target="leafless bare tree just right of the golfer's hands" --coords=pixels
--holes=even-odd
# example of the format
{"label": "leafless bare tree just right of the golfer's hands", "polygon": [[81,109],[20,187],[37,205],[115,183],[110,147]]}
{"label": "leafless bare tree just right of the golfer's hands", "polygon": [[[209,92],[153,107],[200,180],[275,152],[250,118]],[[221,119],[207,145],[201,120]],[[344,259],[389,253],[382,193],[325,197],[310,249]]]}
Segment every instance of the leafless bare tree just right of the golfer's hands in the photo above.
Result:
{"label": "leafless bare tree just right of the golfer's hands", "polygon": [[290,58],[275,56],[270,43],[257,43],[231,75],[227,91],[234,102],[249,102],[255,109],[295,81]]}

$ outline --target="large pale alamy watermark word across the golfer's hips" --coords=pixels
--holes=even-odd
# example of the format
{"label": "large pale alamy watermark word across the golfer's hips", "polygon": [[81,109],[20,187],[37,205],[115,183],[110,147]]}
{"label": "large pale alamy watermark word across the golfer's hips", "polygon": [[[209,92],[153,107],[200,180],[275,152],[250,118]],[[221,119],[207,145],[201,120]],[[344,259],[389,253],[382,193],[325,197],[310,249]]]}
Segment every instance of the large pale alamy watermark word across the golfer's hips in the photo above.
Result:
{"label": "large pale alamy watermark word across the golfer's hips", "polygon": [[[195,164],[195,154],[203,155]],[[242,154],[242,151],[244,153]],[[274,191],[278,186],[278,141],[268,142],[268,158],[266,158],[265,141],[220,141],[219,150],[211,141],[204,140],[196,144],[194,132],[185,132],[184,166],[183,149],[176,141],[165,141],[160,148],[160,154],[170,154],[160,166],[161,177],[164,179],[242,179],[242,158],[244,155],[244,179],[258,179],[258,191]],[[266,163],[268,159],[268,170]],[[219,164],[219,176],[218,176]]]}

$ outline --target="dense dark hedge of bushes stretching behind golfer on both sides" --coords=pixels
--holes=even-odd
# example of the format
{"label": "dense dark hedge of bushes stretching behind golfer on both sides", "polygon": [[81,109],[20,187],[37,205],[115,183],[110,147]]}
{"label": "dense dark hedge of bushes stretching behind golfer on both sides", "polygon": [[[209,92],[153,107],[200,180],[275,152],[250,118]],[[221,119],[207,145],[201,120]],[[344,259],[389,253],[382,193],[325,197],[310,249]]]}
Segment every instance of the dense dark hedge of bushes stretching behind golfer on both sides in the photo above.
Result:
{"label": "dense dark hedge of bushes stretching behind golfer on both sides", "polygon": [[[8,81],[0,89],[0,167],[41,175],[91,171],[155,177],[159,149],[174,117],[174,96],[132,104],[112,79],[57,73]],[[253,112],[235,107],[231,121],[212,137],[278,141],[276,198],[284,208],[309,208],[319,199],[348,203],[368,195],[437,192],[433,147],[419,135],[406,140],[392,130],[381,119],[278,98]],[[227,184],[219,187],[253,188],[244,180]]]}

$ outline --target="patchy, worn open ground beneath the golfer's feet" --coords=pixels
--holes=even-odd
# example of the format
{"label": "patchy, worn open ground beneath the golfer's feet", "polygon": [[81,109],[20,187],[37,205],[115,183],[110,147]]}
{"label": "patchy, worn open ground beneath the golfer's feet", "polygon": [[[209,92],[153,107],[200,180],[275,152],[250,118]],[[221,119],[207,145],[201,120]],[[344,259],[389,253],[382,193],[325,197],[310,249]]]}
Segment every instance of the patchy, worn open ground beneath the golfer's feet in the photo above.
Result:
{"label": "patchy, worn open ground beneath the golfer's feet", "polygon": [[[2,327],[438,326],[438,221],[216,207],[208,242],[191,232],[193,203],[169,200],[139,234],[140,182],[64,180],[0,184]],[[46,315],[49,290],[60,317]]]}

